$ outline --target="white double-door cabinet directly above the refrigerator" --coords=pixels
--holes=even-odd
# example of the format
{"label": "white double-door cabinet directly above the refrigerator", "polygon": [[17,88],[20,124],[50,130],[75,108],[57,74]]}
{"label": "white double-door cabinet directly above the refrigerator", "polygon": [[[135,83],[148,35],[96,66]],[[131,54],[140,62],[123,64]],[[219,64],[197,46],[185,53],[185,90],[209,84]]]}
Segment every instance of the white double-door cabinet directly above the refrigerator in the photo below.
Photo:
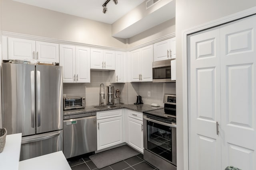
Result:
{"label": "white double-door cabinet directly above the refrigerator", "polygon": [[[59,44],[8,37],[8,60],[59,63]],[[4,42],[3,42],[4,43]]]}

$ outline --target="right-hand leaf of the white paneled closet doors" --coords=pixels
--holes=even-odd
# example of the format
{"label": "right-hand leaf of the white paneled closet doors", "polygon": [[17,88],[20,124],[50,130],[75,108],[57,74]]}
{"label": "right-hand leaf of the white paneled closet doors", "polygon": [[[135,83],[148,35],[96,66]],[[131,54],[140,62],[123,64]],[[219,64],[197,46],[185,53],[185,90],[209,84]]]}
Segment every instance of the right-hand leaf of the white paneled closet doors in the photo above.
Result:
{"label": "right-hand leaf of the white paneled closet doors", "polygon": [[256,16],[220,28],[222,169],[256,170]]}

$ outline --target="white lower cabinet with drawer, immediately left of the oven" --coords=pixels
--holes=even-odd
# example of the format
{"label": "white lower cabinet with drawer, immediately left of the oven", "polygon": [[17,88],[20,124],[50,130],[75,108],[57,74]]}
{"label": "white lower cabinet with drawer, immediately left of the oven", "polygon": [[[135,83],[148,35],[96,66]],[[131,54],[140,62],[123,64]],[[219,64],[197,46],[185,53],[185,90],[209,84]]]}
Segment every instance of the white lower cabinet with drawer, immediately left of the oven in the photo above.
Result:
{"label": "white lower cabinet with drawer, immediately left of the oven", "polygon": [[142,113],[125,109],[125,142],[143,153]]}

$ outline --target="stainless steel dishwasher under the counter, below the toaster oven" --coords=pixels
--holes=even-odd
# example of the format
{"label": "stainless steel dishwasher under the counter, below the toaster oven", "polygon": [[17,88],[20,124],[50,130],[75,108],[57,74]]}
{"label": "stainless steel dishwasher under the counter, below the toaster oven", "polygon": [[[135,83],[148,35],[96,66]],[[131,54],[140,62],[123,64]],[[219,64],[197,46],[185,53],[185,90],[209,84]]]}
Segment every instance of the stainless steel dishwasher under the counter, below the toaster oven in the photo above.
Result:
{"label": "stainless steel dishwasher under the counter, below the toaster oven", "polygon": [[66,158],[97,150],[96,112],[64,116],[63,151]]}

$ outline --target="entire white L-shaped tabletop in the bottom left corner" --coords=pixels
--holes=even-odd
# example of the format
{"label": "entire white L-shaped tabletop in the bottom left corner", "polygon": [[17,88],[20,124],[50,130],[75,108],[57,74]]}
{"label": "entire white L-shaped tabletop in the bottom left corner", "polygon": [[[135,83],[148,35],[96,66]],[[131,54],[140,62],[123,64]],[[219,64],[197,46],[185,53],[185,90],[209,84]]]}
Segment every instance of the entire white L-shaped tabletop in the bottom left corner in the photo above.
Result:
{"label": "entire white L-shaped tabletop in the bottom left corner", "polygon": [[21,139],[21,133],[6,135],[0,170],[71,170],[62,151],[20,161]]}

